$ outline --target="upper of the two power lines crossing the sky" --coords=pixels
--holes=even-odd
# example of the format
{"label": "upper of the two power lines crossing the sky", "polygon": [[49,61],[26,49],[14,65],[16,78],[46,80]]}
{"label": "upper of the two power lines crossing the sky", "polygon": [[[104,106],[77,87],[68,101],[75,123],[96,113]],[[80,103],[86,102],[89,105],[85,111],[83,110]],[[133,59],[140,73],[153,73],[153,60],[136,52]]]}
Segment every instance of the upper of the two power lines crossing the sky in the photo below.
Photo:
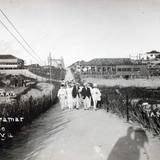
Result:
{"label": "upper of the two power lines crossing the sky", "polygon": [[7,19],[7,21],[10,23],[10,25],[14,28],[16,33],[21,37],[21,39],[25,42],[25,44],[28,46],[28,48],[38,57],[38,59],[43,63],[42,59],[38,56],[38,54],[35,52],[35,50],[30,46],[30,44],[24,39],[22,34],[18,31],[16,26],[13,24],[13,22],[8,18],[8,16],[0,9],[0,12],[3,14],[3,16]]}

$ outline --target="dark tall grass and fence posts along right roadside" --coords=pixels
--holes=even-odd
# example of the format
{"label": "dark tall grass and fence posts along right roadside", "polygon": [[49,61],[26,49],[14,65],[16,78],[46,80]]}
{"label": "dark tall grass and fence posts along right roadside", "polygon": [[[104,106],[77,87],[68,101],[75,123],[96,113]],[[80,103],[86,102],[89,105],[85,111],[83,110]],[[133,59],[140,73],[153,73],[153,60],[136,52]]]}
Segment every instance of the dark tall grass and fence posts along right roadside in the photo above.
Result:
{"label": "dark tall grass and fence posts along right roadside", "polygon": [[154,134],[160,134],[160,89],[100,87],[102,103],[127,121],[136,121]]}

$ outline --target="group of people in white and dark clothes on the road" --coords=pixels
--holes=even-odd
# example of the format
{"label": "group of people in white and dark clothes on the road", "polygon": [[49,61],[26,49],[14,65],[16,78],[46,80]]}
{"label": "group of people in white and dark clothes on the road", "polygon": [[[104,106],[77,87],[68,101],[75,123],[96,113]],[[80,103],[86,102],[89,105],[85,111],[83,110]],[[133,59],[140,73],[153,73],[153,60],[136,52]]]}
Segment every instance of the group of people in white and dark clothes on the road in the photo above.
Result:
{"label": "group of people in white and dark clothes on the road", "polygon": [[63,82],[57,96],[62,110],[79,109],[80,107],[83,107],[84,110],[92,108],[97,110],[97,103],[101,101],[101,92],[97,84],[91,86],[87,82],[83,85],[74,81]]}

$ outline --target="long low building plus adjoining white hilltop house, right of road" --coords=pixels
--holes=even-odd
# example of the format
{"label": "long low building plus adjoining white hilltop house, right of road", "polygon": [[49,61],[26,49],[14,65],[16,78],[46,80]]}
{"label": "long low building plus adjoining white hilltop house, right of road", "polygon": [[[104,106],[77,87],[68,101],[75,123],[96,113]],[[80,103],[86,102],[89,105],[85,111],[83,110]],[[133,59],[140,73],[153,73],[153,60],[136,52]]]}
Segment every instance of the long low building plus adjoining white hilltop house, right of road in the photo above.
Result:
{"label": "long low building plus adjoining white hilltop house, right of road", "polygon": [[160,76],[160,52],[147,52],[146,57],[96,58],[89,62],[79,61],[71,68],[82,77],[95,78],[144,78]]}

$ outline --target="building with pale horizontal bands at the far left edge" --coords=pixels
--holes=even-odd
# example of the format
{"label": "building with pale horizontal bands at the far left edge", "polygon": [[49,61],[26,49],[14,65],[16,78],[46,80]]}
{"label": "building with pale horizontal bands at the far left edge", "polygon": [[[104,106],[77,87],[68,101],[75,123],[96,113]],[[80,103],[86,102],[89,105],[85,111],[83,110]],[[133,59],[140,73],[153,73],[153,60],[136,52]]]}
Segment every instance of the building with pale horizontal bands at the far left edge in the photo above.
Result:
{"label": "building with pale horizontal bands at the far left edge", "polygon": [[23,69],[24,60],[10,54],[0,54],[0,69]]}

